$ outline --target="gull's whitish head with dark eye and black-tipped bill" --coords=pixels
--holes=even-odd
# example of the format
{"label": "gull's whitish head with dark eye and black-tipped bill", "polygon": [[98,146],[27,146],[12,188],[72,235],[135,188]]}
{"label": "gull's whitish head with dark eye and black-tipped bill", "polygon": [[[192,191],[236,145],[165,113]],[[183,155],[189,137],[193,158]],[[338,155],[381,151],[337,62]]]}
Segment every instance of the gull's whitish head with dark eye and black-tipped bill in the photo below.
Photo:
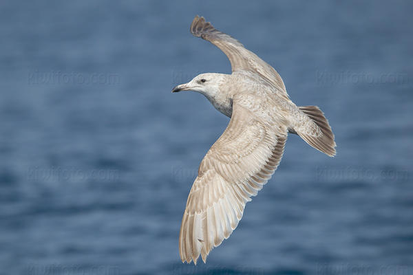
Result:
{"label": "gull's whitish head with dark eye and black-tipped bill", "polygon": [[172,89],[173,93],[178,91],[198,91],[199,93],[213,98],[220,91],[220,84],[225,74],[200,74],[195,76],[189,83],[181,84]]}

